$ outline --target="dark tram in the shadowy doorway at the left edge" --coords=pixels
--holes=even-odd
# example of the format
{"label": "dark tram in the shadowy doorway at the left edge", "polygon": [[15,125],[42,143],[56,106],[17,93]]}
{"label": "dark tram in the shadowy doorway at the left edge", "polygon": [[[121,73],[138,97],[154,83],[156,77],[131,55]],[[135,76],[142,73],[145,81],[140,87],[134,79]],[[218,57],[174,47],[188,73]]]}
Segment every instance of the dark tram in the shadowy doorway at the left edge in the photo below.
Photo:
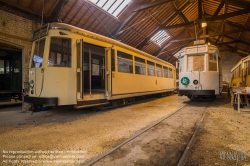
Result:
{"label": "dark tram in the shadowy doorway at the left edge", "polygon": [[22,56],[0,50],[0,102],[22,99]]}

